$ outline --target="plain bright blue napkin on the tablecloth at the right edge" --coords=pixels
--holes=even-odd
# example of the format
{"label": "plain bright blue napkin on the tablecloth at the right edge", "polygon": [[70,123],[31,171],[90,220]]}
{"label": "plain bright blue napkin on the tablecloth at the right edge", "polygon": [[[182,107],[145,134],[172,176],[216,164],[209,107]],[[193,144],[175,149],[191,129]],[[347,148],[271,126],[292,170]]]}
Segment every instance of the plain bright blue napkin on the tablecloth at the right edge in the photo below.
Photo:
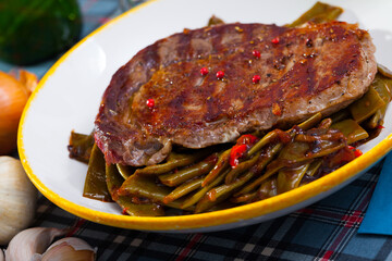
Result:
{"label": "plain bright blue napkin on the tablecloth at the right edge", "polygon": [[383,167],[358,233],[392,235],[392,152]]}

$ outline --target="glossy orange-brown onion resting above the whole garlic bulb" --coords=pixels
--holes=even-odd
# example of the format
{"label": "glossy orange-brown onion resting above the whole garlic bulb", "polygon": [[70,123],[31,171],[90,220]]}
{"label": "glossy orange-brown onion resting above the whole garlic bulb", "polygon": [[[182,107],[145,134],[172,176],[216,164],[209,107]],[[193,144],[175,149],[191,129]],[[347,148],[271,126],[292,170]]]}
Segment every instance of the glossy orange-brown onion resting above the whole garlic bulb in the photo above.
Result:
{"label": "glossy orange-brown onion resting above the whole garlic bulb", "polygon": [[17,79],[0,72],[0,156],[16,149],[17,126],[28,95]]}

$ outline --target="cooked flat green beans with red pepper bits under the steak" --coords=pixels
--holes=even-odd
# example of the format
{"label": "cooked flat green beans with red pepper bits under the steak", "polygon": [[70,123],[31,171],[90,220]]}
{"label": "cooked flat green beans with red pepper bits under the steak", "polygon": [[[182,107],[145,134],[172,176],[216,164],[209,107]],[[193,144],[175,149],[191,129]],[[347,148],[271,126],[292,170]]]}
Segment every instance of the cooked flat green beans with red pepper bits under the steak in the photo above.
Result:
{"label": "cooked flat green beans with red pepper bits under the steak", "polygon": [[[327,22],[341,12],[317,3],[286,26]],[[223,22],[209,21],[217,23]],[[378,71],[360,99],[330,117],[317,113],[286,130],[245,134],[236,144],[175,148],[164,162],[145,167],[107,164],[93,134],[72,132],[70,157],[88,163],[83,195],[115,201],[124,214],[160,216],[216,211],[295,189],[359,157],[357,147],[381,132],[392,75]]]}

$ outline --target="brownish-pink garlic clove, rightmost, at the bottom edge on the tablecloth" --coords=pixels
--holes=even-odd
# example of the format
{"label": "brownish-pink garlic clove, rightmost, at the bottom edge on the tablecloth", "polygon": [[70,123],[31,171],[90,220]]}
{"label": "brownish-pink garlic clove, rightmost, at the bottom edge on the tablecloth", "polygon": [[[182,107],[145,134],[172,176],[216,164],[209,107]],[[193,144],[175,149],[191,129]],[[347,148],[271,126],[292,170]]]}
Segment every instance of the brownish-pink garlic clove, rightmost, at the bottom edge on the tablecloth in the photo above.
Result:
{"label": "brownish-pink garlic clove, rightmost, at the bottom edge on the tablecloth", "polygon": [[85,240],[76,237],[65,237],[53,243],[42,254],[41,261],[94,261],[96,249]]}

